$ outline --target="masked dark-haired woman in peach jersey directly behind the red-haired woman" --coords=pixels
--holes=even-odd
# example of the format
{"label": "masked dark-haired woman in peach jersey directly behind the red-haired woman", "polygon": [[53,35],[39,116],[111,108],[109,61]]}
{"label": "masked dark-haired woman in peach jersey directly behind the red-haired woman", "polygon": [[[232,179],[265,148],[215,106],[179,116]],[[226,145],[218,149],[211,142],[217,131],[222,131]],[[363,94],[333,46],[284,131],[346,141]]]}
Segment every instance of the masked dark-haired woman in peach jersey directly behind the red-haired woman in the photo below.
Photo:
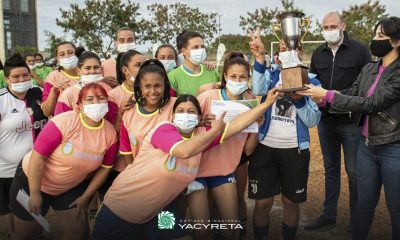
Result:
{"label": "masked dark-haired woman in peach jersey directly behind the red-haired woman", "polygon": [[83,52],[78,58],[78,72],[80,81],[61,92],[54,110],[54,116],[63,112],[76,110],[78,107],[79,92],[85,85],[98,83],[107,93],[111,90],[110,86],[104,82],[100,82],[103,76],[101,75],[101,61],[97,54],[87,51]]}

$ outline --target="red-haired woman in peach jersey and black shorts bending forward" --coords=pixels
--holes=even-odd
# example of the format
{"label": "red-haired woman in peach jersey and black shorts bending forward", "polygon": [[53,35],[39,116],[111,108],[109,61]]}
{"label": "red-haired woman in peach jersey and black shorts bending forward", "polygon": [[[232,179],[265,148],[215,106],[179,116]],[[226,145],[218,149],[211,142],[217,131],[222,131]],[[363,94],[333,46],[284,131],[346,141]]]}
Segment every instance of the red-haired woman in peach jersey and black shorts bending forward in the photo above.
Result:
{"label": "red-haired woman in peach jersey and black shorts bending forward", "polygon": [[103,119],[107,111],[104,88],[89,84],[80,91],[77,111],[52,118],[42,130],[11,186],[13,239],[31,239],[41,232],[16,200],[20,189],[30,195],[31,213],[46,215],[50,207],[55,210],[64,239],[88,239],[87,205],[106,180],[117,152],[115,130]]}

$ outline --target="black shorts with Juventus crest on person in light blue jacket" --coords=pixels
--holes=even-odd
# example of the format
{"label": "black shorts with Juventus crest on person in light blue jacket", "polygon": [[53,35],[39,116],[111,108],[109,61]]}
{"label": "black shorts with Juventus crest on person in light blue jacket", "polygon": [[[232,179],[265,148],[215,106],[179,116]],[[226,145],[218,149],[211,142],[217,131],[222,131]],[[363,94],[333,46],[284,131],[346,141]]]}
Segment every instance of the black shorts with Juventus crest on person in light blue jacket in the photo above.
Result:
{"label": "black shorts with Juventus crest on person in light blue jacket", "polygon": [[282,193],[289,200],[307,200],[310,151],[271,148],[259,143],[249,164],[251,199],[265,199]]}

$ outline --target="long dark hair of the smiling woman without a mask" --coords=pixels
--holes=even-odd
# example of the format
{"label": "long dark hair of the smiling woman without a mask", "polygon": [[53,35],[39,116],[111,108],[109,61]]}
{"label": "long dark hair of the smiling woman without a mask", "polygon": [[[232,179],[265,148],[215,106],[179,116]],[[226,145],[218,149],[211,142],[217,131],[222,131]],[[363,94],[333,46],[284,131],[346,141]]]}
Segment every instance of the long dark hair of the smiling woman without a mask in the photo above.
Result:
{"label": "long dark hair of the smiling woman without a mask", "polygon": [[161,108],[164,107],[171,98],[170,94],[171,85],[169,83],[167,72],[164,69],[164,65],[157,59],[150,59],[145,61],[139,69],[133,87],[136,102],[139,104],[139,106],[146,105],[146,99],[143,97],[142,90],[140,89],[141,80],[146,73],[159,74],[164,80],[164,96],[161,99],[161,104],[159,106],[161,111]]}

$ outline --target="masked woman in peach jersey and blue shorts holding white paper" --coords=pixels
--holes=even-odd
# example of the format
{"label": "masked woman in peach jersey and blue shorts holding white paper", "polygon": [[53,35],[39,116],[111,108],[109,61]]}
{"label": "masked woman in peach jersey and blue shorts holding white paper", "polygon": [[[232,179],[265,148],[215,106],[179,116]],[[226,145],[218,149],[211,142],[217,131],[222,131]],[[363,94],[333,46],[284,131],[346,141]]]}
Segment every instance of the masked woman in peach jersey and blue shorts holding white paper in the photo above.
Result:
{"label": "masked woman in peach jersey and blue shorts holding white paper", "polygon": [[[197,96],[206,126],[210,120],[215,119],[215,115],[211,114],[213,100],[255,99],[248,91],[249,73],[250,65],[242,53],[232,52],[226,57],[221,89],[208,90]],[[241,156],[242,153],[250,155],[256,145],[256,133],[238,133],[224,144],[203,154],[197,178],[188,187],[189,209],[194,219],[209,221],[208,193],[210,192],[218,208],[218,211],[213,211],[219,213],[217,219],[236,221],[240,219],[244,227],[241,233],[246,234],[247,207],[244,192],[247,185],[247,161],[241,162]],[[236,231],[221,231],[221,233],[224,239],[235,239],[237,234]],[[195,231],[197,239],[211,238],[210,234],[211,232],[207,230]]]}

